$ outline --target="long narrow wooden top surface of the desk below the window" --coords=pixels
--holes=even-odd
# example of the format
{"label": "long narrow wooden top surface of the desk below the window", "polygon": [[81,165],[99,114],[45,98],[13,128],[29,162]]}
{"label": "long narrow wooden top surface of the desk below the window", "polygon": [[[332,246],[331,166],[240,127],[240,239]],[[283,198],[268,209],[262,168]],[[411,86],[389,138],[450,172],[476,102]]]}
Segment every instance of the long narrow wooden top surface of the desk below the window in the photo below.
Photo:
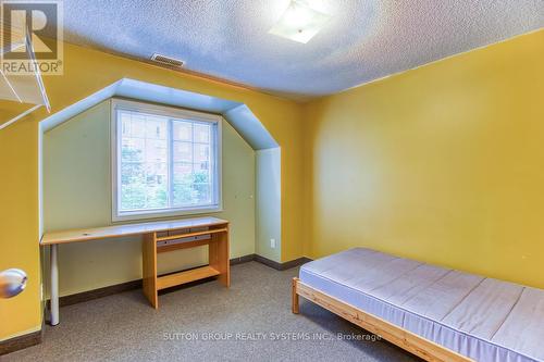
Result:
{"label": "long narrow wooden top surface of the desk below the window", "polygon": [[40,245],[46,246],[53,244],[106,239],[120,236],[166,232],[173,229],[222,225],[227,223],[228,222],[225,220],[205,216],[205,217],[168,220],[160,222],[138,223],[138,224],[122,224],[122,225],[112,225],[112,226],[94,227],[94,228],[79,228],[79,229],[46,233],[41,238]]}

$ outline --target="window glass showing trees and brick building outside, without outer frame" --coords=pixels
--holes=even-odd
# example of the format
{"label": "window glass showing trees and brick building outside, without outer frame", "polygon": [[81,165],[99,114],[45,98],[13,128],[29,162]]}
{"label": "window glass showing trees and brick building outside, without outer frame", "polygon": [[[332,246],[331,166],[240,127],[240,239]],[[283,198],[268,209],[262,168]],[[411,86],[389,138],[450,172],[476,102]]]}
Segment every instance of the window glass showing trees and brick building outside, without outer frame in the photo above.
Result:
{"label": "window glass showing trees and brick building outside, without outer frame", "polygon": [[213,123],[118,110],[119,210],[211,205]]}

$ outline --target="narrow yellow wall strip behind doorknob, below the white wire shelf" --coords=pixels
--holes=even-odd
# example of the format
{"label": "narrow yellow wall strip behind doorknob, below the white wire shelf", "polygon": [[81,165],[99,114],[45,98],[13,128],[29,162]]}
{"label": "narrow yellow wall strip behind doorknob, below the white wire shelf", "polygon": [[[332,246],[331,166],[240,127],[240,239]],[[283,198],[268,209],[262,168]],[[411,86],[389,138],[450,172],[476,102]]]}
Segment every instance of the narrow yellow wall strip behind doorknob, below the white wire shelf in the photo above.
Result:
{"label": "narrow yellow wall strip behind doorknob, below the white wire shelf", "polygon": [[0,340],[41,327],[37,145],[35,121],[0,130],[0,271],[29,276],[17,298],[0,299]]}

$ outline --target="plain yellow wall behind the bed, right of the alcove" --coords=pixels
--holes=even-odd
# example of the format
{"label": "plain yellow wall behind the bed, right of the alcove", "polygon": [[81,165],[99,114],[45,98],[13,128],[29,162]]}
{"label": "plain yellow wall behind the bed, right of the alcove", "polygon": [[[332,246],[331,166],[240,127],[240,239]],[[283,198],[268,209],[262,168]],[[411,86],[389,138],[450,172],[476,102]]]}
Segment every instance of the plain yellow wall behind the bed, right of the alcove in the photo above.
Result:
{"label": "plain yellow wall behind the bed, right of the alcove", "polygon": [[544,30],[306,107],[306,250],[544,288]]}

